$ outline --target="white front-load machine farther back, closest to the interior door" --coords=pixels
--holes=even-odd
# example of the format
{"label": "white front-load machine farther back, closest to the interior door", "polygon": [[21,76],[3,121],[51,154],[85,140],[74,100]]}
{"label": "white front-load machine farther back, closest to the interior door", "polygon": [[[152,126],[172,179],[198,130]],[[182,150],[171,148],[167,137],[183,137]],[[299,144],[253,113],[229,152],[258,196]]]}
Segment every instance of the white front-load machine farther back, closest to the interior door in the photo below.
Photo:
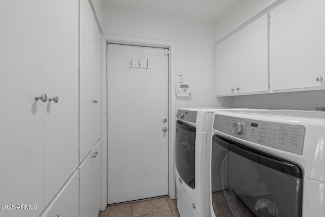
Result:
{"label": "white front-load machine farther back, closest to the interior door", "polygon": [[[181,217],[210,216],[213,112],[240,108],[179,108],[176,122],[177,207]],[[244,110],[244,109],[240,109]]]}

